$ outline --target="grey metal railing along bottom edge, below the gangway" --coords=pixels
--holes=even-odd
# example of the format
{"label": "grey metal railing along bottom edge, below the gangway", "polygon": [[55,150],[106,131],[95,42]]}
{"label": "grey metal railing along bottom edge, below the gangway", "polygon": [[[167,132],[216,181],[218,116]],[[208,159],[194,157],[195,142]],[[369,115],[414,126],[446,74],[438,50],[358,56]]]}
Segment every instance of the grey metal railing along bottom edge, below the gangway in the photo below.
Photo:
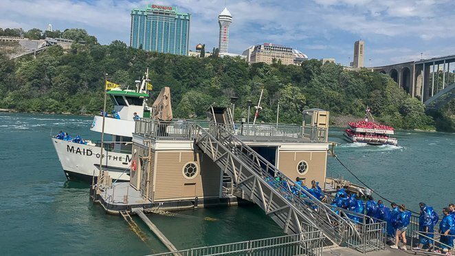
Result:
{"label": "grey metal railing along bottom edge, below the gangway", "polygon": [[296,235],[283,235],[265,239],[219,244],[177,250],[172,253],[158,253],[155,256],[202,256],[202,255],[322,255],[324,235],[322,231],[309,231]]}

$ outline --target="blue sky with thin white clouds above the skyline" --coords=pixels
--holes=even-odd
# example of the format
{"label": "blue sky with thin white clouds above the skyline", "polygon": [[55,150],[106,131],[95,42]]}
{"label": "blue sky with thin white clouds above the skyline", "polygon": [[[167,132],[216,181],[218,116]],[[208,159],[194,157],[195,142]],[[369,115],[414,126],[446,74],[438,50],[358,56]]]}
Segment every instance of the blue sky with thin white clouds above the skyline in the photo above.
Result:
{"label": "blue sky with thin white clouds above the skyline", "polygon": [[102,44],[129,44],[131,10],[155,3],[190,12],[190,49],[218,47],[218,14],[233,16],[229,52],[259,43],[298,49],[309,58],[353,61],[365,41],[366,66],[455,54],[454,0],[0,0],[0,28],[84,28]]}

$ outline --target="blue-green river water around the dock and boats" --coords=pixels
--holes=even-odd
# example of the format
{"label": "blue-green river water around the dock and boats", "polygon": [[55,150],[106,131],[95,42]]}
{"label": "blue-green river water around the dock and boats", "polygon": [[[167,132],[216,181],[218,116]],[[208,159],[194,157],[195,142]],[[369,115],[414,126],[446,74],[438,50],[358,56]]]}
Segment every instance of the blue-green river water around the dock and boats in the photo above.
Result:
{"label": "blue-green river water around the dock and boats", "polygon": [[[99,139],[91,117],[0,113],[0,255],[145,255],[166,251],[142,222],[142,242],[121,217],[89,201],[89,186],[68,182],[49,136],[60,129]],[[398,131],[399,147],[363,146],[342,140],[337,156],[362,181],[416,210],[421,201],[440,211],[455,202],[455,134]],[[334,158],[328,175],[358,183]],[[379,199],[379,198],[375,198]],[[282,235],[256,206],[153,215],[153,222],[179,249]]]}

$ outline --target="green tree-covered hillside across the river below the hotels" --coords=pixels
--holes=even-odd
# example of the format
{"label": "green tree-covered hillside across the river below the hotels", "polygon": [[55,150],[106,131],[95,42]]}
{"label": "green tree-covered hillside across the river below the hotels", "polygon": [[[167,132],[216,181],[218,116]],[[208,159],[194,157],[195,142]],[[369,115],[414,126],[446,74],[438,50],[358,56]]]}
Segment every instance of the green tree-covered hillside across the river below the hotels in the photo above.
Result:
{"label": "green tree-covered hillside across the river below the hotels", "polygon": [[[228,105],[238,96],[236,120],[247,116],[247,100],[256,105],[264,88],[259,120],[299,123],[302,110],[313,107],[332,116],[358,116],[366,105],[379,120],[403,129],[434,129],[433,118],[388,76],[368,70],[343,70],[340,65],[305,61],[302,66],[248,65],[240,58],[195,58],[132,49],[121,41],[99,45],[81,31],[64,52],[53,46],[37,58],[9,61],[0,55],[0,108],[49,113],[96,114],[102,107],[104,74],[122,87],[133,87],[148,67],[151,98],[164,86],[171,89],[178,118],[205,118],[208,105]],[[65,35],[63,32],[63,35]],[[80,34],[82,33],[82,34]],[[253,114],[254,109],[252,109]]]}

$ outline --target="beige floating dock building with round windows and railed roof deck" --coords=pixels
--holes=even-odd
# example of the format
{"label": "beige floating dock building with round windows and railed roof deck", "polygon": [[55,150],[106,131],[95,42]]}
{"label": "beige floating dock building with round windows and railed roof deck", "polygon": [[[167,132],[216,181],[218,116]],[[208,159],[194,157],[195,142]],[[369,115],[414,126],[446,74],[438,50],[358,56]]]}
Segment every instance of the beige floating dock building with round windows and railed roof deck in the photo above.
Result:
{"label": "beige floating dock building with round windows and railed roof deck", "polygon": [[234,122],[224,107],[210,107],[207,116],[135,122],[130,182],[145,202],[164,208],[232,204],[232,198],[252,200],[264,180],[325,183],[328,111],[304,111],[301,126]]}

